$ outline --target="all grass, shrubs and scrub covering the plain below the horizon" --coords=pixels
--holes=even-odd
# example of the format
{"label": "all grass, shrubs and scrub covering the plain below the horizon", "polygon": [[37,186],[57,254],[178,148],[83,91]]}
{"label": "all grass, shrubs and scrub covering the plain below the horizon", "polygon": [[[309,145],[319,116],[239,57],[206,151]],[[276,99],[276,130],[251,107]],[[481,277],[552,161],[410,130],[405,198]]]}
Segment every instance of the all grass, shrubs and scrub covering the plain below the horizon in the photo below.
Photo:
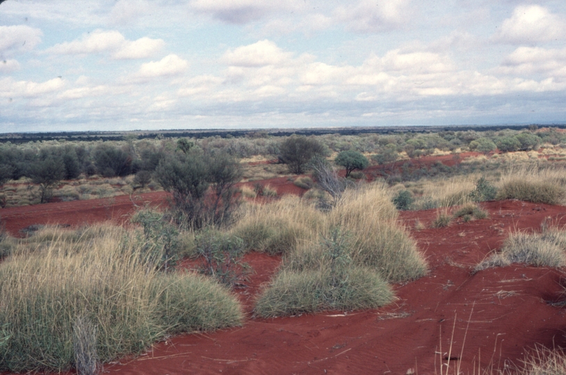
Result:
{"label": "all grass, shrubs and scrub covering the plain below the horizon", "polygon": [[[254,317],[378,308],[394,300],[391,284],[428,273],[398,210],[436,210],[441,228],[485,219],[484,201],[566,203],[566,135],[554,128],[224,135],[0,145],[3,207],[172,196],[130,228],[0,233],[0,370],[92,374],[168,335],[242,324],[232,290],[250,251],[282,257]],[[304,194],[260,181],[273,177]],[[565,244],[554,228],[515,233],[476,272],[562,267]],[[181,270],[182,258],[198,267]]]}

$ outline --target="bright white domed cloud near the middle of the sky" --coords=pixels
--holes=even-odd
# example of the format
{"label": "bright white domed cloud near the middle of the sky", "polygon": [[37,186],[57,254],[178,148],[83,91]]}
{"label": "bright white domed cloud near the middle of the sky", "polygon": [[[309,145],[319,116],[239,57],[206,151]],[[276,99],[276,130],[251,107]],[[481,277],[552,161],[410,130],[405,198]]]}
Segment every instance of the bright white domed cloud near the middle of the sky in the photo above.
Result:
{"label": "bright white domed cloud near the middle of the sky", "polygon": [[276,65],[291,58],[292,53],[284,52],[277,44],[269,40],[229,50],[223,56],[223,61],[236,67],[261,67]]}

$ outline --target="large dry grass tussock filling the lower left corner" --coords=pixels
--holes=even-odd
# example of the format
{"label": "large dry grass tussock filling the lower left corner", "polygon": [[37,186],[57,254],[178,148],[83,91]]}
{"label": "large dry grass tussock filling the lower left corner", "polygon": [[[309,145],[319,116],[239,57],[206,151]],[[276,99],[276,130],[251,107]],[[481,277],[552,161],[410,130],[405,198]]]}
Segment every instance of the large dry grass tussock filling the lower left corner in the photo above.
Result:
{"label": "large dry grass tussock filling the lower left corner", "polygon": [[112,226],[47,228],[19,242],[0,265],[0,369],[66,371],[80,366],[77,347],[104,362],[170,333],[241,324],[225,288],[195,274],[163,274],[152,259],[136,233]]}

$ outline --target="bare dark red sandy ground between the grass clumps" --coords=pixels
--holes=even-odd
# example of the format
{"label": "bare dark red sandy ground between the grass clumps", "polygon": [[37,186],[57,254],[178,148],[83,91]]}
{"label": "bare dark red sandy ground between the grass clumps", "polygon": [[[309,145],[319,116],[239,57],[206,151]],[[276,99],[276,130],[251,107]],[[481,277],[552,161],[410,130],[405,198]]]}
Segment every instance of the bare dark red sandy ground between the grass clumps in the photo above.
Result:
{"label": "bare dark red sandy ground between the grass clumps", "polygon": [[[275,180],[271,185],[278,192],[296,188],[286,178]],[[142,194],[136,204],[163,204],[167,196]],[[280,258],[250,253],[244,259],[254,270],[248,288],[235,290],[248,315],[242,327],[170,338],[142,356],[104,365],[104,372],[438,374],[441,362],[446,367],[450,356],[451,374],[457,366],[472,374],[478,366],[518,365],[535,344],[566,347],[565,309],[549,304],[563,299],[563,270],[512,265],[471,273],[510,232],[540,231],[544,220],[565,225],[566,207],[522,201],[481,206],[489,218],[467,223],[458,219],[447,228],[421,231],[414,229],[415,222],[430,226],[436,210],[401,213],[400,220],[425,254],[430,273],[394,285],[397,299],[389,306],[257,319],[252,312],[254,299],[275,274]],[[133,209],[129,197],[115,197],[8,208],[0,214],[8,231],[17,233],[30,224],[124,222]]]}

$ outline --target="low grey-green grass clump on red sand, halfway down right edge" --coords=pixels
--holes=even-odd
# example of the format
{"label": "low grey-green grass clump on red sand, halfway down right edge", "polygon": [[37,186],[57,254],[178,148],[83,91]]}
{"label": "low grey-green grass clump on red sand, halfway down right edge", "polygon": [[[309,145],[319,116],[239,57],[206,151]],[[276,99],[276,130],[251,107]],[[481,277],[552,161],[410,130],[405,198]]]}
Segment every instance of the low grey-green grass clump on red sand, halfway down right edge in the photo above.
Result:
{"label": "low grey-green grass clump on red sand, halfway down right edge", "polygon": [[490,267],[505,267],[524,263],[535,267],[563,267],[566,265],[566,233],[549,229],[543,233],[512,233],[501,251],[494,253],[476,266],[475,271]]}

